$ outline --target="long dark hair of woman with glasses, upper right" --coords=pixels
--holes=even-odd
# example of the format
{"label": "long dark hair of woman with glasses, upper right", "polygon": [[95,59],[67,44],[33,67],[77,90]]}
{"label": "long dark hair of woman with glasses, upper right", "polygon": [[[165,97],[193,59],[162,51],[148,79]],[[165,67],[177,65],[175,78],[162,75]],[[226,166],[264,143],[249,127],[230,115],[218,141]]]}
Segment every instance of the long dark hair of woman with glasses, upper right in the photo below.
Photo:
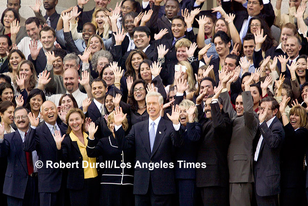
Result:
{"label": "long dark hair of woman with glasses, upper right", "polygon": [[[261,49],[262,51],[267,51],[269,48],[272,48],[275,42],[275,38],[272,36],[271,29],[267,26],[267,23],[260,16],[254,16],[249,21],[249,26],[251,25],[253,20],[258,20],[261,23],[261,29],[263,29],[263,36],[266,36],[265,41],[263,42]],[[247,33],[252,33],[250,29],[247,30]]]}

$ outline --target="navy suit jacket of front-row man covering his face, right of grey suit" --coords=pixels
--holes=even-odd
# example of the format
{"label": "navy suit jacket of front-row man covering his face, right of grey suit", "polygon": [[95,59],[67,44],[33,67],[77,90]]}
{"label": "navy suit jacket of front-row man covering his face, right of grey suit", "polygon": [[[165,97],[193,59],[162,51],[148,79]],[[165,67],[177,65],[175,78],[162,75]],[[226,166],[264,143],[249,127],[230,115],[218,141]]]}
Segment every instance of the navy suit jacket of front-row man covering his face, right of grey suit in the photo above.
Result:
{"label": "navy suit jacket of front-row man covering his face, right of grey suit", "polygon": [[277,117],[269,127],[265,121],[258,126],[258,138],[254,140],[255,146],[261,135],[263,140],[258,160],[255,162],[256,194],[259,196],[277,195],[280,193],[280,149],[284,139],[284,130]]}

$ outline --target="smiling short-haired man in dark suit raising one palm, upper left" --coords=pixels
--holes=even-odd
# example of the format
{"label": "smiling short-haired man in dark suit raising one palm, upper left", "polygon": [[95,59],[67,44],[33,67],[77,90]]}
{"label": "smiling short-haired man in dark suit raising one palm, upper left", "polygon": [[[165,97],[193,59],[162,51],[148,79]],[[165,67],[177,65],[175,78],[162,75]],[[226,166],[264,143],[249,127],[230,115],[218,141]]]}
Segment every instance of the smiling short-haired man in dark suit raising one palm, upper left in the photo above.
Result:
{"label": "smiling short-haired man in dark suit raising one palm, upper left", "polygon": [[43,47],[37,49],[36,41],[30,44],[30,55],[28,56],[28,60],[34,64],[37,74],[44,71],[47,63],[45,52],[51,52],[54,49],[55,39],[54,29],[51,27],[43,27],[40,31],[40,42]]}

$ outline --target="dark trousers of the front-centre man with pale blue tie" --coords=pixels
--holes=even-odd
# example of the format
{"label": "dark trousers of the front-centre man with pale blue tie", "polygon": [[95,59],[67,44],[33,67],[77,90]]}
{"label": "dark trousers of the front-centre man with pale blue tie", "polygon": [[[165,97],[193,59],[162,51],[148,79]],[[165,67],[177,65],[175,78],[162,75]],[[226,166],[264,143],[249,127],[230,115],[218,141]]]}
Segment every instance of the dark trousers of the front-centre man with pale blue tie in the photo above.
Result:
{"label": "dark trousers of the front-centre man with pale blue tie", "polygon": [[[164,180],[162,180],[164,181]],[[149,188],[145,195],[135,195],[136,206],[160,206],[160,205],[174,205],[175,195],[156,195],[153,193],[151,179],[149,182]]]}

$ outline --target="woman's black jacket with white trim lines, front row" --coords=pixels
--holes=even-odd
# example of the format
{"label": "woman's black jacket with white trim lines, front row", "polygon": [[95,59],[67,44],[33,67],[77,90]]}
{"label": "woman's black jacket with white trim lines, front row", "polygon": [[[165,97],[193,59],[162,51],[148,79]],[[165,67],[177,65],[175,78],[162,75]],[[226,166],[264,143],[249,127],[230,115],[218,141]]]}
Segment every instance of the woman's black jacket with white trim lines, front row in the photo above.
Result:
{"label": "woman's black jacket with white trim lines, front row", "polygon": [[[107,167],[104,170],[101,184],[133,184],[135,157],[133,148],[122,151],[112,135],[100,139],[98,143],[97,140],[88,138],[87,155],[88,157],[101,157],[103,163],[113,161],[113,167]],[[119,167],[121,163],[126,164],[123,169]],[[117,165],[118,168],[114,165]],[[128,165],[131,165],[130,168]]]}

